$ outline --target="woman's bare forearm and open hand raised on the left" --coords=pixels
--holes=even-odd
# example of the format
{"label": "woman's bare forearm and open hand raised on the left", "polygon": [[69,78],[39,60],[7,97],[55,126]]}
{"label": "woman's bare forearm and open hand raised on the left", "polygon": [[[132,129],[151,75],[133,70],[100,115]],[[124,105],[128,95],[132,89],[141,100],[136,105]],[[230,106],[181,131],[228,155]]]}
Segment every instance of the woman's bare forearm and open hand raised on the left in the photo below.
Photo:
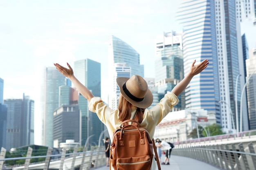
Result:
{"label": "woman's bare forearm and open hand raised on the left", "polygon": [[69,78],[71,80],[71,82],[74,84],[74,86],[76,87],[76,89],[83,95],[83,97],[88,99],[88,101],[90,102],[90,100],[92,99],[92,97],[94,97],[94,95],[87,87],[85,87],[81,82],[79,82],[78,79],[76,79],[76,77],[74,76],[73,69],[71,68],[70,64],[67,63],[68,68],[65,68],[57,63],[54,64],[54,66],[56,66],[57,70],[61,74],[63,74],[65,77]]}

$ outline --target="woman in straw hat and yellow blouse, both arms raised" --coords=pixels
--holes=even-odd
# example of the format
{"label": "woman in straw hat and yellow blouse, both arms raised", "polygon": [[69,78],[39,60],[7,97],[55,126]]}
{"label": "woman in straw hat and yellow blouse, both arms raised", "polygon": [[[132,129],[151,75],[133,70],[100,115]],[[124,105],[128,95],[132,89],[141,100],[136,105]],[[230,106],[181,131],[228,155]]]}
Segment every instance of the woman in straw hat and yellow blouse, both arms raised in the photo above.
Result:
{"label": "woman in straw hat and yellow blouse, both arms raised", "polygon": [[[157,124],[179,102],[177,96],[184,91],[194,75],[199,74],[207,67],[209,60],[204,60],[198,65],[194,64],[195,61],[191,65],[189,74],[171,92],[167,92],[156,106],[150,109],[147,108],[153,102],[153,95],[148,89],[146,81],[139,75],[133,75],[131,78],[118,77],[117,85],[120,88],[120,98],[117,110],[108,108],[100,97],[94,97],[91,91],[76,79],[68,63],[68,68],[59,64],[54,64],[54,66],[65,77],[69,78],[76,89],[88,99],[89,110],[96,113],[103,124],[106,125],[110,139],[112,139],[113,132],[119,128],[121,122],[127,119],[138,121],[141,127],[147,128],[150,138],[153,139]],[[155,161],[152,161],[151,169],[155,170]]]}

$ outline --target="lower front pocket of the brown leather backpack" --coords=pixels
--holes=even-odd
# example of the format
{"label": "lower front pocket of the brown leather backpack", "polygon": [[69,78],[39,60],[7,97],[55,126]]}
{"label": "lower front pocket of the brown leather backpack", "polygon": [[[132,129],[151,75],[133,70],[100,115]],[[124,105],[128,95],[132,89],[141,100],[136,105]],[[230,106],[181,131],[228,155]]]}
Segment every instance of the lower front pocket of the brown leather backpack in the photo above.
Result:
{"label": "lower front pocket of the brown leather backpack", "polygon": [[150,170],[151,160],[148,155],[117,159],[117,170]]}

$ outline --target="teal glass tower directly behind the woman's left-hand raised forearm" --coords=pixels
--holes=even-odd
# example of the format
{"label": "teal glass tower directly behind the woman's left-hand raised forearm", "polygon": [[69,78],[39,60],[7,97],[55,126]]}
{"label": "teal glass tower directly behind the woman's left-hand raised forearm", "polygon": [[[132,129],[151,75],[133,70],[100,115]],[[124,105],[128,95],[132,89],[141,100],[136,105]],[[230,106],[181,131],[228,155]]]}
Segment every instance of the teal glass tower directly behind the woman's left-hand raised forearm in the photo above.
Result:
{"label": "teal glass tower directly behind the woman's left-hand raised forearm", "polygon": [[[84,59],[74,62],[74,75],[85,85],[94,96],[101,97],[101,64],[99,62]],[[79,110],[81,111],[81,144],[84,145],[87,137],[90,137],[89,143],[98,144],[99,135],[104,130],[104,125],[95,113],[88,110],[88,101],[79,94]],[[92,142],[91,142],[92,141]]]}

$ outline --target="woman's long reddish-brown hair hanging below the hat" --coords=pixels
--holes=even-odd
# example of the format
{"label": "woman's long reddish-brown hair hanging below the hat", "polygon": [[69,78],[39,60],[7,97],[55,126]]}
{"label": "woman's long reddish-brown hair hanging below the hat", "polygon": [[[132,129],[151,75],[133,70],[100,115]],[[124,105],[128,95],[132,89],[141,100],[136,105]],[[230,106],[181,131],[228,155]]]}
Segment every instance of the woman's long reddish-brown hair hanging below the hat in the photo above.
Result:
{"label": "woman's long reddish-brown hair hanging below the hat", "polygon": [[[119,121],[125,121],[130,119],[132,104],[128,102],[121,94],[120,94],[120,99],[118,103],[118,110],[119,110]],[[134,120],[141,123],[143,120],[144,110],[145,110],[144,108],[137,107],[136,116]]]}

